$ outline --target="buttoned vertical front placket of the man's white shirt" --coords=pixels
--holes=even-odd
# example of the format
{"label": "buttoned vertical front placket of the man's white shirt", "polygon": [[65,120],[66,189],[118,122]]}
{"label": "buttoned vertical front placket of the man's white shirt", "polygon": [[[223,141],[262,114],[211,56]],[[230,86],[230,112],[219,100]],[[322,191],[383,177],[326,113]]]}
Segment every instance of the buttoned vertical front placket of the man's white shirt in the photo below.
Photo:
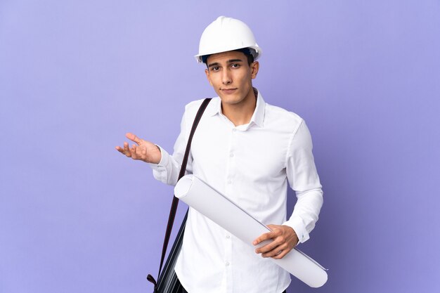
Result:
{"label": "buttoned vertical front placket of the man's white shirt", "polygon": [[[226,167],[226,197],[231,198],[231,195],[233,193],[233,186],[235,184],[235,145],[236,145],[236,136],[237,136],[237,129],[232,128],[231,129],[231,137],[229,140],[229,146],[228,146],[228,162]],[[225,230],[225,270],[226,270],[226,292],[232,293],[233,292],[233,267],[234,263],[232,263],[232,252],[233,252],[233,237],[231,237],[231,234]]]}

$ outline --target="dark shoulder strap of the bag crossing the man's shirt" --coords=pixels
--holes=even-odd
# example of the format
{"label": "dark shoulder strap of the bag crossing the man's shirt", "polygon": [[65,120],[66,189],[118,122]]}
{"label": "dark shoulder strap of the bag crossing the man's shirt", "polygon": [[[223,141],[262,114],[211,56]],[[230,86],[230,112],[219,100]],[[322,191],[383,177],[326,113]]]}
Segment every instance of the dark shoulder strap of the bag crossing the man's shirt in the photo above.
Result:
{"label": "dark shoulder strap of the bag crossing the man's shirt", "polygon": [[[200,119],[202,118],[203,112],[205,112],[205,109],[207,108],[207,105],[209,104],[210,101],[211,101],[211,98],[205,98],[205,100],[203,100],[203,102],[202,102],[202,105],[200,105],[200,108],[199,108],[197,114],[195,115],[193,127],[191,128],[190,136],[188,137],[188,143],[186,144],[185,155],[183,156],[183,161],[182,161],[182,166],[180,169],[178,181],[180,180],[180,178],[185,176],[186,164],[188,163],[188,157],[190,154],[191,141],[193,141],[195,129],[197,128],[197,126],[200,122]],[[171,235],[171,231],[172,231],[173,223],[174,223],[174,218],[176,217],[176,211],[177,211],[178,205],[179,205],[179,198],[174,196],[173,202],[171,205],[171,209],[169,211],[167,231],[165,232],[164,245],[162,246],[162,257],[160,258],[159,273],[157,275],[157,278],[159,278],[160,271],[162,271],[162,265],[164,263],[165,254],[167,252],[169,236]],[[155,278],[153,278],[152,275],[148,275],[147,280],[152,282],[155,286],[157,285],[157,282],[156,282]]]}

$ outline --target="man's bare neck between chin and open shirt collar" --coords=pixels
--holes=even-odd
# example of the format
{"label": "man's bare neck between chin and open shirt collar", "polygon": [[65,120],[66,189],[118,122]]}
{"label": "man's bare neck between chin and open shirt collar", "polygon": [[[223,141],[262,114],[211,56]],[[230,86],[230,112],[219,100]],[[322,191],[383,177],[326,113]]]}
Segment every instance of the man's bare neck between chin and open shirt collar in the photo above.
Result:
{"label": "man's bare neck between chin and open shirt collar", "polygon": [[235,126],[248,124],[257,106],[257,91],[252,89],[243,103],[221,103],[221,111]]}

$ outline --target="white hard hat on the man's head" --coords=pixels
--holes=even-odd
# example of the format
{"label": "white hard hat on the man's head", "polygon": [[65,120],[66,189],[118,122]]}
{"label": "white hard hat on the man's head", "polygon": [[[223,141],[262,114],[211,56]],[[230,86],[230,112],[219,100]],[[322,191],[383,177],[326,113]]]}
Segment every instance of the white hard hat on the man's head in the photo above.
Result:
{"label": "white hard hat on the man's head", "polygon": [[250,48],[254,60],[257,60],[262,53],[254,34],[245,22],[220,16],[203,31],[199,53],[194,57],[198,63],[202,63],[202,56],[241,48]]}

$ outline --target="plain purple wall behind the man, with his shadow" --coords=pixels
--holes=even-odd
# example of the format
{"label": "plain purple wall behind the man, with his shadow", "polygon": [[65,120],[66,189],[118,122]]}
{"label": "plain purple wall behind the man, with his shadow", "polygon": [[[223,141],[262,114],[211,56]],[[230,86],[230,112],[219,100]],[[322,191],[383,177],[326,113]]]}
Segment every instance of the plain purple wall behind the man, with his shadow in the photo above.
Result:
{"label": "plain purple wall behind the man, with his shadow", "polygon": [[215,95],[193,55],[219,15],[313,136],[325,203],[301,248],[329,280],[289,292],[439,290],[439,1],[2,0],[1,293],[153,291],[172,188],[114,148],[172,151]]}

